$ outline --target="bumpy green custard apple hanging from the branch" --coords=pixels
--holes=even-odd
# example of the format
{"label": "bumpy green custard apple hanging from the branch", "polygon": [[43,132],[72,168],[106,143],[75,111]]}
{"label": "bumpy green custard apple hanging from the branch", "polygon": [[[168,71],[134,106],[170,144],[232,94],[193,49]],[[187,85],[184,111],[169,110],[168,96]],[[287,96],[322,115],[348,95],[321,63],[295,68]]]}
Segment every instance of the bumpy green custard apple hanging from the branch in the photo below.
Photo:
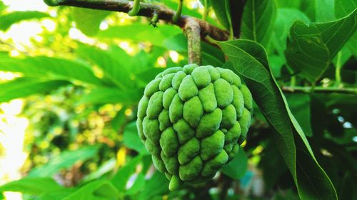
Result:
{"label": "bumpy green custard apple hanging from the branch", "polygon": [[211,179],[233,159],[251,111],[251,93],[233,71],[191,64],[169,68],[146,85],[137,127],[173,190]]}

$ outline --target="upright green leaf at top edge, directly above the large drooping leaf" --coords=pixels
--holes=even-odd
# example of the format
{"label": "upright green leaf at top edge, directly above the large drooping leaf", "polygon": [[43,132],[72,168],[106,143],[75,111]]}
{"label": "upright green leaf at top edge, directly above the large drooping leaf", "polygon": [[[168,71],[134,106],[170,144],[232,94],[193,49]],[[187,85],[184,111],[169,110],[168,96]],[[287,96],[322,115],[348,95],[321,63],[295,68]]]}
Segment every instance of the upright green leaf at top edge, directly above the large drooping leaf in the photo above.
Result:
{"label": "upright green leaf at top edge, directly above the large drooping leaf", "polygon": [[273,0],[248,0],[243,10],[241,38],[268,45],[276,19],[276,4]]}

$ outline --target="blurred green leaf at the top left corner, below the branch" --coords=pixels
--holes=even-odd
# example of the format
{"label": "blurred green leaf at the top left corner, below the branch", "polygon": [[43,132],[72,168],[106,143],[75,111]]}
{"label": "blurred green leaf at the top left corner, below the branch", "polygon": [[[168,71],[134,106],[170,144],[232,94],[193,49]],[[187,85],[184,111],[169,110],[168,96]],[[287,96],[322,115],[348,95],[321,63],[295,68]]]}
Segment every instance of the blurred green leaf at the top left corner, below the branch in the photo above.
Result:
{"label": "blurred green leaf at the top left corner, below the branch", "polygon": [[49,14],[39,11],[15,11],[9,14],[0,15],[0,30],[6,31],[14,23],[24,20],[41,19],[49,17]]}

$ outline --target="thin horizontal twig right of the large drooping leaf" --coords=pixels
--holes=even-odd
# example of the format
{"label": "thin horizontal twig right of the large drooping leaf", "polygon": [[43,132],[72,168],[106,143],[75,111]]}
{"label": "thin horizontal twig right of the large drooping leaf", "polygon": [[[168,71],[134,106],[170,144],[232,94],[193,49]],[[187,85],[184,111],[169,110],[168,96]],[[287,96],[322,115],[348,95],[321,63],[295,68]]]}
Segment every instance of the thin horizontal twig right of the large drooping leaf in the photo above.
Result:
{"label": "thin horizontal twig right of the large drooping leaf", "polygon": [[284,86],[281,88],[284,93],[343,93],[343,94],[352,94],[357,95],[357,88],[326,88],[326,87],[311,87],[311,86],[295,86],[288,87]]}

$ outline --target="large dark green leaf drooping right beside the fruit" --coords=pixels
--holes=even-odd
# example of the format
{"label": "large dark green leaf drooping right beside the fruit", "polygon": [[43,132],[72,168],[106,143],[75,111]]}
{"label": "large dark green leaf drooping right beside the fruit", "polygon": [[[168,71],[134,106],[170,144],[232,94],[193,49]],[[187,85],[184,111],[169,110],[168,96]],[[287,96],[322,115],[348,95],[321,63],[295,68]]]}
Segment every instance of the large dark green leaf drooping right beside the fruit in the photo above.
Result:
{"label": "large dark green leaf drooping right beside the fruit", "polygon": [[254,101],[276,132],[276,143],[301,199],[337,199],[331,180],[316,161],[306,136],[271,75],[263,46],[246,40],[219,45],[246,81]]}

